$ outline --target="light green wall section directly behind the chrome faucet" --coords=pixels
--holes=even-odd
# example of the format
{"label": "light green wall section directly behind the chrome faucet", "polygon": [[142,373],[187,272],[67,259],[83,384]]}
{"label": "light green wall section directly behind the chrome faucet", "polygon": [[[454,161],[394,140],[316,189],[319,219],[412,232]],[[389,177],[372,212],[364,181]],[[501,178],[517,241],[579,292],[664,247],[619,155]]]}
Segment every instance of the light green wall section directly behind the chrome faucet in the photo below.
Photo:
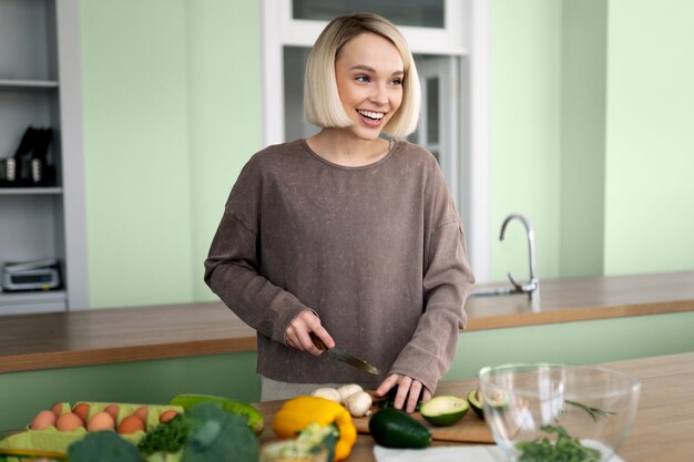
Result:
{"label": "light green wall section directly behind the chrome faucet", "polygon": [[[535,232],[538,274],[559,273],[561,2],[491,1],[490,11],[491,276],[528,277],[519,223],[498,242],[503,218],[528,216]],[[474,268],[473,268],[474,269]]]}

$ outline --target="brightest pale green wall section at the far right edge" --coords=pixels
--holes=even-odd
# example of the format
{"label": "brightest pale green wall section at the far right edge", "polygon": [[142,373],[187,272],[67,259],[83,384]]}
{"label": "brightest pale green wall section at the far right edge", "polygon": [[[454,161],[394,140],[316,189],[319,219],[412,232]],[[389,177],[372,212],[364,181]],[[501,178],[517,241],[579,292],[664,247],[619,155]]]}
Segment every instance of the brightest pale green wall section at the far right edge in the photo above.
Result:
{"label": "brightest pale green wall section at the far right edge", "polygon": [[694,269],[694,2],[611,0],[605,273]]}

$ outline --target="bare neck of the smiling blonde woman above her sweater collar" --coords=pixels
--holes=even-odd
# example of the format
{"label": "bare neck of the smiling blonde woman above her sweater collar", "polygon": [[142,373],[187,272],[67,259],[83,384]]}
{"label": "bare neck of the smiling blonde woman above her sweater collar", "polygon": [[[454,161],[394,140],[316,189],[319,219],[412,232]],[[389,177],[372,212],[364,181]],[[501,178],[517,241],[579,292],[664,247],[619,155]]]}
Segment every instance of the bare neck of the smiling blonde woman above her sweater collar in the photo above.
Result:
{"label": "bare neck of the smiling blonde woman above her sweater collar", "polygon": [[314,153],[337,165],[360,167],[388,155],[390,143],[386,140],[361,140],[340,129],[323,129],[306,140]]}

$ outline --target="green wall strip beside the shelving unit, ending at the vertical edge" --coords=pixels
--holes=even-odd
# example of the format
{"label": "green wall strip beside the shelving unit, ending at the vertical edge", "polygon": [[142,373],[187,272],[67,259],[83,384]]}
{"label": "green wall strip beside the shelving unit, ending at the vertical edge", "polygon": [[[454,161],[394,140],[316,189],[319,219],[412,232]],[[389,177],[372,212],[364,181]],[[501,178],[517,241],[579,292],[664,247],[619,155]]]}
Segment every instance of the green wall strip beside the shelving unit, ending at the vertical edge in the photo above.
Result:
{"label": "green wall strip beside the shelving unit, ending at the vertical edge", "polygon": [[184,6],[80,2],[92,307],[193,299]]}

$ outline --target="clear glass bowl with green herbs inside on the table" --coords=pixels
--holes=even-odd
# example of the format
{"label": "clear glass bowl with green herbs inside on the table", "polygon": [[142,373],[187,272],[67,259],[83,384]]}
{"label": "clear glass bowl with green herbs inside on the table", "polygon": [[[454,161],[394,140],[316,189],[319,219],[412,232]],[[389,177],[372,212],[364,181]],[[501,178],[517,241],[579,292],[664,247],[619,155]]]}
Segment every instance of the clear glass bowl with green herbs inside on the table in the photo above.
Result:
{"label": "clear glass bowl with green herbs inside on the table", "polygon": [[513,462],[608,461],[625,441],[641,382],[583,366],[504,365],[478,374],[484,419]]}

